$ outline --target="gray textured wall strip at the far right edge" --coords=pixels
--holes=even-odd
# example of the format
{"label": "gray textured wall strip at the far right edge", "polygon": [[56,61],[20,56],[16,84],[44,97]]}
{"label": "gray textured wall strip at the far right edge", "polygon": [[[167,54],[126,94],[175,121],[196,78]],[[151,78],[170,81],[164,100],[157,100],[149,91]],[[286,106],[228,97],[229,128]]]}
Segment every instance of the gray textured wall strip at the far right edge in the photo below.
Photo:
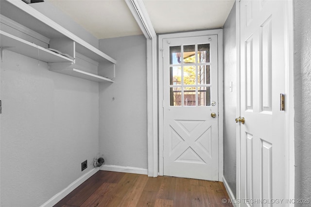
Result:
{"label": "gray textured wall strip at the far right edge", "polygon": [[[295,197],[311,198],[311,1],[294,0]],[[310,204],[296,206],[309,207]]]}

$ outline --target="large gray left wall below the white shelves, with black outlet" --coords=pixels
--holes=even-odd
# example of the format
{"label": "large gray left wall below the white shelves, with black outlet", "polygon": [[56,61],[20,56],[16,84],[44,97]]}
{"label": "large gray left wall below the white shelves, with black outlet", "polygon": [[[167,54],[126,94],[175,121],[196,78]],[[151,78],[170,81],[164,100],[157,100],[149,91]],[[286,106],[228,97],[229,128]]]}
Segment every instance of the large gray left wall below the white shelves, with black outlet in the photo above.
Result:
{"label": "large gray left wall below the white shelves, with black outlet", "polygon": [[0,66],[0,206],[37,207],[93,169],[98,83],[8,50]]}

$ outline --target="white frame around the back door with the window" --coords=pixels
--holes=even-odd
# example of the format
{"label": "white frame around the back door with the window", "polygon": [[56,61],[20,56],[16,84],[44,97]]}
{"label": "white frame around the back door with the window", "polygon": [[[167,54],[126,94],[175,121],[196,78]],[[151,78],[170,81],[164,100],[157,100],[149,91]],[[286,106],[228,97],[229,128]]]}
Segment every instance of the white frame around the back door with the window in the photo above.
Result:
{"label": "white frame around the back door with the window", "polygon": [[159,120],[159,175],[163,175],[163,139],[164,139],[164,122],[163,122],[163,58],[162,43],[163,39],[179,37],[195,37],[205,35],[217,35],[218,44],[218,180],[223,179],[224,168],[224,150],[223,150],[223,126],[224,126],[224,97],[223,97],[223,29],[205,30],[196,32],[180,32],[158,35],[158,120]]}

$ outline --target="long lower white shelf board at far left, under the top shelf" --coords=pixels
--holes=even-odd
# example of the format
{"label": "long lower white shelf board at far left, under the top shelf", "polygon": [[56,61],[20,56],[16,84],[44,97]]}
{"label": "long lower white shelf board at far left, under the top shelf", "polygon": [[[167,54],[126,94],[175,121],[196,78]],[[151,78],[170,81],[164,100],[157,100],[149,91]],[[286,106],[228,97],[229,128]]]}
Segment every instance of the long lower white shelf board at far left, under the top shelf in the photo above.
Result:
{"label": "long lower white shelf board at far left, under the top shelf", "polygon": [[[1,50],[8,49],[47,63],[73,62],[72,59],[52,52],[7,32],[0,31]],[[3,51],[1,51],[2,53]],[[2,58],[2,57],[1,57]]]}

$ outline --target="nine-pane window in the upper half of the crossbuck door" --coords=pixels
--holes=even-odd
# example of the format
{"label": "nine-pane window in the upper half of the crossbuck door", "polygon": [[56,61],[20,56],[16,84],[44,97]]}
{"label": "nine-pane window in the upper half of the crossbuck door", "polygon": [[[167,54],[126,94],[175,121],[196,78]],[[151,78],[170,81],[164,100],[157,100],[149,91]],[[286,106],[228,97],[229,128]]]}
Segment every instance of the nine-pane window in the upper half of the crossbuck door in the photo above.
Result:
{"label": "nine-pane window in the upper half of the crossbuck door", "polygon": [[170,47],[170,105],[210,106],[209,44]]}

